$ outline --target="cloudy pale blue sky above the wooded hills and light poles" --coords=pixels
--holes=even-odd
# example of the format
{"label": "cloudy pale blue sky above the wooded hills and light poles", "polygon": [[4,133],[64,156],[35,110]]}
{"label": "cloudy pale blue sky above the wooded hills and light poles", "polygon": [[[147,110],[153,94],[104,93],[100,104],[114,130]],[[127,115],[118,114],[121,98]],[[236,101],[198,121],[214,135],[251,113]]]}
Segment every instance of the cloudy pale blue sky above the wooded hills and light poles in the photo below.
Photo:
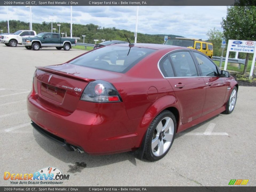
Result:
{"label": "cloudy pale blue sky above the wooded hills and light poles", "polygon": [[[73,6],[73,23],[135,30],[137,6]],[[0,21],[7,20],[6,6],[0,6]],[[138,33],[174,34],[207,39],[208,30],[219,29],[226,6],[140,6]],[[33,6],[32,21],[70,22],[70,6]],[[29,22],[29,9],[9,6],[9,20]]]}

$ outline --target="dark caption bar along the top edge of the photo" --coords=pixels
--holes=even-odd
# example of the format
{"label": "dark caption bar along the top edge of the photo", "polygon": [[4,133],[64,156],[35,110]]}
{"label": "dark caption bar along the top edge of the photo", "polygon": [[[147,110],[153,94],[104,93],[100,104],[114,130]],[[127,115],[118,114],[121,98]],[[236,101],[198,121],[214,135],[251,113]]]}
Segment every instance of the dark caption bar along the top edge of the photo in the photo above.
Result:
{"label": "dark caption bar along the top edge of the photo", "polygon": [[1,0],[0,6],[230,6],[255,5],[255,0]]}

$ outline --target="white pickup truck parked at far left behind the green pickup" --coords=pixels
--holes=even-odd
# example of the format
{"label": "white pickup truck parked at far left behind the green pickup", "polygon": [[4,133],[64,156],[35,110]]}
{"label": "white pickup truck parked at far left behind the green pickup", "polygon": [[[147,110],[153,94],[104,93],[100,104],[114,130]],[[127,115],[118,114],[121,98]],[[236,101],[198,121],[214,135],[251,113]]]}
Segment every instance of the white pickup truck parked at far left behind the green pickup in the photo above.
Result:
{"label": "white pickup truck parked at far left behind the green pickup", "polygon": [[19,30],[14,34],[4,35],[1,37],[1,43],[6,46],[17,47],[18,44],[22,45],[22,38],[34,37],[37,35],[35,31]]}

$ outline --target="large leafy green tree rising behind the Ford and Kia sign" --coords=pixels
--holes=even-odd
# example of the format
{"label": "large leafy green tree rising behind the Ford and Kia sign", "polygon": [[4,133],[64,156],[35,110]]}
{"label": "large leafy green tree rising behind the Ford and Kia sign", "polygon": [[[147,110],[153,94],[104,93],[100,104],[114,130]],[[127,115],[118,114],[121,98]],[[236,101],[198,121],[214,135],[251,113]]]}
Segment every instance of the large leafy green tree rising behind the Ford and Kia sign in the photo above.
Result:
{"label": "large leafy green tree rising behind the Ford and Kia sign", "polygon": [[[239,1],[235,3],[239,5]],[[229,6],[227,16],[222,18],[221,26],[226,39],[256,41],[256,6]],[[249,53],[246,54],[246,74]]]}

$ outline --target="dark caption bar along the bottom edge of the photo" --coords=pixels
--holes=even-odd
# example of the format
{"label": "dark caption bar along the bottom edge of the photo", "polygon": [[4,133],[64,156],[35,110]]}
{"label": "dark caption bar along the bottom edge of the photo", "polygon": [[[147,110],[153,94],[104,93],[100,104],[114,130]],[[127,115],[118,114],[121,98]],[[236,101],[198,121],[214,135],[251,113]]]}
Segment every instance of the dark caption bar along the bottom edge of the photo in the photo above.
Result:
{"label": "dark caption bar along the bottom edge of the photo", "polygon": [[255,191],[256,187],[0,187],[1,192],[12,192],[12,191],[45,191],[45,192],[55,192],[55,191],[77,191],[77,192],[251,192]]}

